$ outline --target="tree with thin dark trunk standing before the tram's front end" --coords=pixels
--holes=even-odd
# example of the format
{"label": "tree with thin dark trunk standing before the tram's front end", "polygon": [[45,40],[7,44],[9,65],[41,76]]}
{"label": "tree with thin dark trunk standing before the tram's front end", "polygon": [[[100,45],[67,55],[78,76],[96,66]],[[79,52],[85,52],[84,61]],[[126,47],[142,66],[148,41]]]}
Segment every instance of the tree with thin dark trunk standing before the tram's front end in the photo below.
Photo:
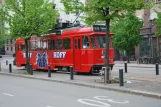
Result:
{"label": "tree with thin dark trunk standing before the tram's front end", "polygon": [[[84,12],[84,20],[88,24],[94,24],[98,21],[104,21],[106,24],[106,50],[105,50],[105,66],[109,70],[109,32],[110,20],[119,17],[126,11],[136,11],[150,3],[145,3],[145,0],[87,0],[84,5],[80,0],[61,0],[64,4],[65,11],[75,13],[77,11]],[[107,71],[108,72],[108,71]],[[109,73],[107,73],[109,74]],[[109,75],[108,75],[109,77]]]}

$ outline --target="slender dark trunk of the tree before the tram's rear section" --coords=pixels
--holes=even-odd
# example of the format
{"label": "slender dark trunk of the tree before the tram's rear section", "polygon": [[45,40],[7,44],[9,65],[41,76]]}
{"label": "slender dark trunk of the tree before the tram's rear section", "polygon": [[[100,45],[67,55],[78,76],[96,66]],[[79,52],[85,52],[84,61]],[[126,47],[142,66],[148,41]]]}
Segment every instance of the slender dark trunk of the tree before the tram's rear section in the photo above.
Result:
{"label": "slender dark trunk of the tree before the tram's rear section", "polygon": [[25,39],[25,47],[26,47],[26,69],[27,72],[30,70],[30,54],[29,54],[29,39]]}

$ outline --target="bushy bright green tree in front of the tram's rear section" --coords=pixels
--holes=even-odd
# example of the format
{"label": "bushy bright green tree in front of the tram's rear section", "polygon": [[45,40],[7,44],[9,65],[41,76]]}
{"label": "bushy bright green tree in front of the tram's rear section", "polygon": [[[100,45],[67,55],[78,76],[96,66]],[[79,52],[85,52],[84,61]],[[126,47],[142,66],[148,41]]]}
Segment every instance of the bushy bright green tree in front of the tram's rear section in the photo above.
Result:
{"label": "bushy bright green tree in front of the tram's rear section", "polygon": [[56,24],[57,10],[49,0],[5,0],[1,15],[9,24],[9,34],[25,39],[26,65],[29,70],[29,44],[32,35],[48,33]]}

